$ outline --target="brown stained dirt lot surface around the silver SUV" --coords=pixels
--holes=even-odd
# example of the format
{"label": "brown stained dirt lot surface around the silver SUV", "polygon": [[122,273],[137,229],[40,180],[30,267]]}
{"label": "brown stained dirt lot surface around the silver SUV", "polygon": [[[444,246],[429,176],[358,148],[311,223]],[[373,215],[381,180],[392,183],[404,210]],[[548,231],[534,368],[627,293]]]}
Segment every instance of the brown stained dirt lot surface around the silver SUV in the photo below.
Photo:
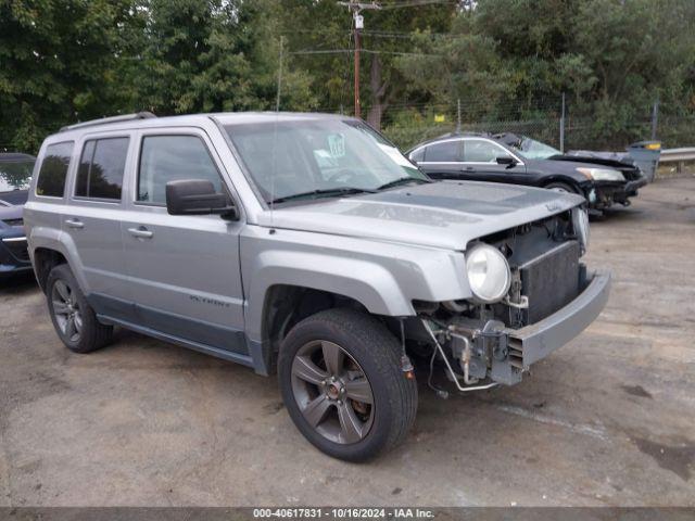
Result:
{"label": "brown stained dirt lot surface around the silver SUV", "polygon": [[693,506],[695,178],[593,223],[589,262],[614,290],[584,334],[515,387],[421,385],[405,445],[361,466],[306,443],[274,379],[125,331],[73,355],[33,281],[4,284],[0,506]]}

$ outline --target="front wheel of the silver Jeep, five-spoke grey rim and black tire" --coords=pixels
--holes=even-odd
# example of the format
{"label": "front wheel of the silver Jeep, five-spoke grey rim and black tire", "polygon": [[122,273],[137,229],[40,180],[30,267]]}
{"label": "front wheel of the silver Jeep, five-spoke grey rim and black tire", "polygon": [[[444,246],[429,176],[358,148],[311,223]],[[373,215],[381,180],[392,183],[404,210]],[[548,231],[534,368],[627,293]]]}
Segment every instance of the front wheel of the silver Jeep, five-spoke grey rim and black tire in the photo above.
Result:
{"label": "front wheel of the silver Jeep, five-spoke grey rim and black tire", "polygon": [[417,385],[401,369],[401,345],[376,318],[328,309],[299,322],[278,359],[285,405],[319,450],[364,461],[403,442]]}

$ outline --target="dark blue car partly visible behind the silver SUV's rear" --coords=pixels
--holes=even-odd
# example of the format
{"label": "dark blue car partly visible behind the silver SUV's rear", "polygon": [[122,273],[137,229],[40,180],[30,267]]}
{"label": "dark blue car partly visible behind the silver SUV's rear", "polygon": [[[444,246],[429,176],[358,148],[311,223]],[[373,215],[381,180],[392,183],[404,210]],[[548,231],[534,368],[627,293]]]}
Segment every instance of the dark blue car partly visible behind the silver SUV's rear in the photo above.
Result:
{"label": "dark blue car partly visible behind the silver SUV's rear", "polygon": [[36,157],[0,153],[0,279],[31,271],[22,213]]}

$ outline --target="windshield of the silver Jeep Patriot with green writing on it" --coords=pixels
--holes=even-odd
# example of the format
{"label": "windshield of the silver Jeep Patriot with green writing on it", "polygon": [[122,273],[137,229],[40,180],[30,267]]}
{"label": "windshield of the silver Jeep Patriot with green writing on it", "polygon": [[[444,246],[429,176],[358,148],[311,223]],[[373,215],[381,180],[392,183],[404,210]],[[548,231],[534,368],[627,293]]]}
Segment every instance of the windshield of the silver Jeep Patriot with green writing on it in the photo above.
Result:
{"label": "windshield of the silver Jeep Patriot with green writing on it", "polygon": [[225,128],[266,202],[429,181],[393,144],[361,122],[265,120]]}

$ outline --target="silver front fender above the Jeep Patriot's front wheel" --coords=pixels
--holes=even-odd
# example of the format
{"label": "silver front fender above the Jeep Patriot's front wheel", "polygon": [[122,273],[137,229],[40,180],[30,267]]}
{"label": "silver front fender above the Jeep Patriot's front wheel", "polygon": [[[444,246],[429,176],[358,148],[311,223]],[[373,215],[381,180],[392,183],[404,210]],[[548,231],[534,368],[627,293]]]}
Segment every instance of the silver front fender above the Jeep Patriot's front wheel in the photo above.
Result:
{"label": "silver front fender above the Jeep Patriot's front wheel", "polygon": [[[348,296],[375,315],[414,316],[413,300],[471,295],[460,252],[295,230],[248,227],[241,237],[245,330],[262,341],[266,293],[277,284]],[[330,242],[330,244],[328,244]],[[354,252],[345,256],[345,252]]]}

